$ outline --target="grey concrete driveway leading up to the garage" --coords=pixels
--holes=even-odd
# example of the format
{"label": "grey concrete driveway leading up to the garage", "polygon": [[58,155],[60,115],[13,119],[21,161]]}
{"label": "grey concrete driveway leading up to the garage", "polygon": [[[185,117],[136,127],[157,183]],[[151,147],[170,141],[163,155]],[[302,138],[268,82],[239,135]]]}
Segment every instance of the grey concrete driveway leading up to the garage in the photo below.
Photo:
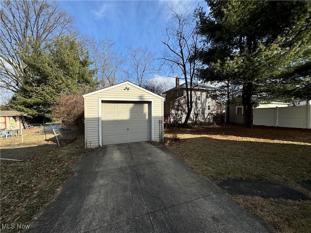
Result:
{"label": "grey concrete driveway leading up to the garage", "polygon": [[104,147],[73,170],[29,232],[271,232],[163,146]]}

